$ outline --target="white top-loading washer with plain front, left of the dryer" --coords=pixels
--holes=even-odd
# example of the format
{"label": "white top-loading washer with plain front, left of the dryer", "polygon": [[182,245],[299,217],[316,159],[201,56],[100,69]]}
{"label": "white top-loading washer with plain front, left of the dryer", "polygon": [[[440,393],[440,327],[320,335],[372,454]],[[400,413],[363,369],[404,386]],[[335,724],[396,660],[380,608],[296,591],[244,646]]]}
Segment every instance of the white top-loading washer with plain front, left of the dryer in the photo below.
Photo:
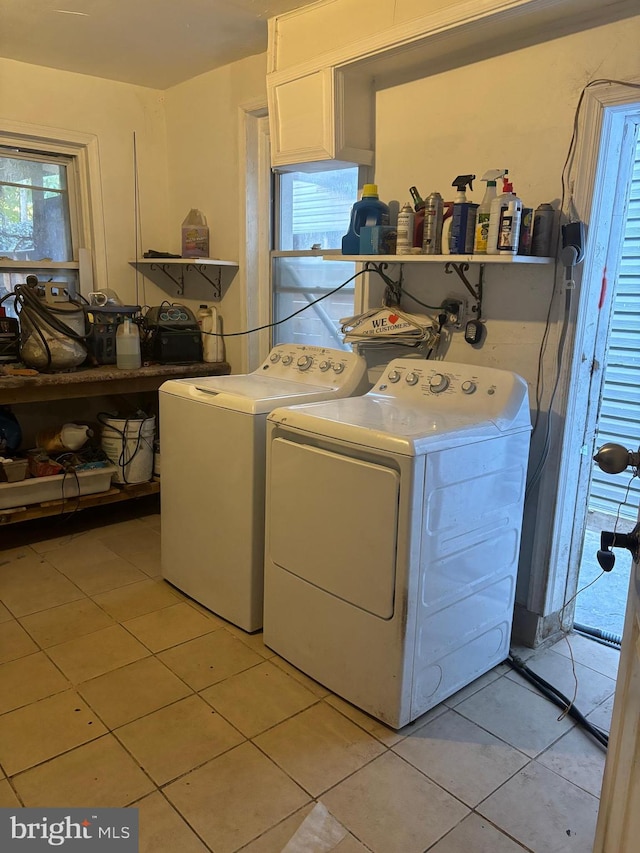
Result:
{"label": "white top-loading washer with plain front, left of the dryer", "polygon": [[162,576],[245,631],[262,627],[267,415],[370,387],[355,353],[295,344],[253,373],[165,382]]}

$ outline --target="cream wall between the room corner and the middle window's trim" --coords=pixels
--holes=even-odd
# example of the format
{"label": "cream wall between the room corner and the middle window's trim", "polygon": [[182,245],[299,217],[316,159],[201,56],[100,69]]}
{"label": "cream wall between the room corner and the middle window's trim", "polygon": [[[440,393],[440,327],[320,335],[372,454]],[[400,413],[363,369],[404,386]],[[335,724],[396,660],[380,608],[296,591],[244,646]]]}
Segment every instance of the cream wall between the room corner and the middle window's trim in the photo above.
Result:
{"label": "cream wall between the room corner and the middle window's trim", "polygon": [[[209,225],[211,257],[239,262],[237,271],[223,270],[219,304],[224,330],[246,329],[245,297],[255,282],[245,278],[243,110],[266,106],[266,55],[234,62],[188,80],[166,94],[169,165],[170,247],[180,251],[180,225],[190,208],[200,209]],[[175,293],[175,288],[171,290]],[[191,275],[181,300],[197,309],[211,301],[211,288]],[[166,298],[166,297],[165,297]],[[226,339],[227,360],[234,372],[246,364],[246,338]]]}

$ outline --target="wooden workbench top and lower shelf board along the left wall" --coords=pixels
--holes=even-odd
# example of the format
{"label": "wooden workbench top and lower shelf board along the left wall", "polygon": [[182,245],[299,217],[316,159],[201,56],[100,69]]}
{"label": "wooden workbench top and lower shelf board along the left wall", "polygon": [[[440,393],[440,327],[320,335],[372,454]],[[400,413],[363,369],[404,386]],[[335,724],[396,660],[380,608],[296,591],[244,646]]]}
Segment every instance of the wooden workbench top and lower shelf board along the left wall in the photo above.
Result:
{"label": "wooden workbench top and lower shelf board along the left wall", "polygon": [[[0,373],[0,405],[43,403],[120,394],[157,391],[168,379],[221,376],[231,372],[226,361],[196,364],[150,364],[137,370],[119,370],[115,365],[79,368],[66,373],[38,373],[36,376],[6,376]],[[80,509],[117,503],[160,491],[157,478],[130,486],[112,484],[106,492],[82,495],[69,500],[44,501],[11,509],[0,509],[0,526]]]}

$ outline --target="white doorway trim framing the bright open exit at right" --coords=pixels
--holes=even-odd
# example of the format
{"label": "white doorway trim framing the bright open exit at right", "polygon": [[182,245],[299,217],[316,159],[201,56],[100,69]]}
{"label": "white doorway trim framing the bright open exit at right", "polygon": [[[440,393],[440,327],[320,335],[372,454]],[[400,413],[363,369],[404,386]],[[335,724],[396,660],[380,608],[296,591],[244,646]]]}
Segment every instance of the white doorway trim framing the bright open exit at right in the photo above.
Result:
{"label": "white doorway trim framing the bright open exit at right", "polygon": [[[631,86],[619,81],[593,81],[593,88],[584,92],[582,116],[577,123],[575,180],[569,184],[569,193],[572,215],[589,224],[589,233],[584,266],[575,276],[580,297],[573,309],[575,334],[566,374],[566,414],[548,575],[544,589],[540,586],[542,579],[538,579],[537,590],[531,590],[534,597],[537,593],[538,605],[544,599],[544,614],[561,614],[578,585],[606,356],[606,336],[601,330],[610,322],[624,221],[616,202],[620,187],[628,186],[632,167],[635,145],[629,120],[640,121],[640,83],[629,82]],[[570,630],[573,607],[567,607],[563,615],[565,624],[561,627]]]}

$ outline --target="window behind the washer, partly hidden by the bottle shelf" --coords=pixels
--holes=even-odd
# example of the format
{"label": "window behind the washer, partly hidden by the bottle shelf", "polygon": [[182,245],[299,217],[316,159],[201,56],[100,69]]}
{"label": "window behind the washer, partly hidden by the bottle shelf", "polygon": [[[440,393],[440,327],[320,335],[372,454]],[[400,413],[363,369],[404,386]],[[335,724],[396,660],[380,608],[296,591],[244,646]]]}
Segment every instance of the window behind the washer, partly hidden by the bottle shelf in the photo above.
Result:
{"label": "window behind the washer, partly hidden by the bottle shelf", "polygon": [[274,175],[273,321],[306,308],[273,327],[274,344],[348,348],[342,342],[339,321],[353,314],[354,283],[327,294],[354,274],[355,264],[325,263],[312,247],[340,249],[357,194],[356,166]]}

